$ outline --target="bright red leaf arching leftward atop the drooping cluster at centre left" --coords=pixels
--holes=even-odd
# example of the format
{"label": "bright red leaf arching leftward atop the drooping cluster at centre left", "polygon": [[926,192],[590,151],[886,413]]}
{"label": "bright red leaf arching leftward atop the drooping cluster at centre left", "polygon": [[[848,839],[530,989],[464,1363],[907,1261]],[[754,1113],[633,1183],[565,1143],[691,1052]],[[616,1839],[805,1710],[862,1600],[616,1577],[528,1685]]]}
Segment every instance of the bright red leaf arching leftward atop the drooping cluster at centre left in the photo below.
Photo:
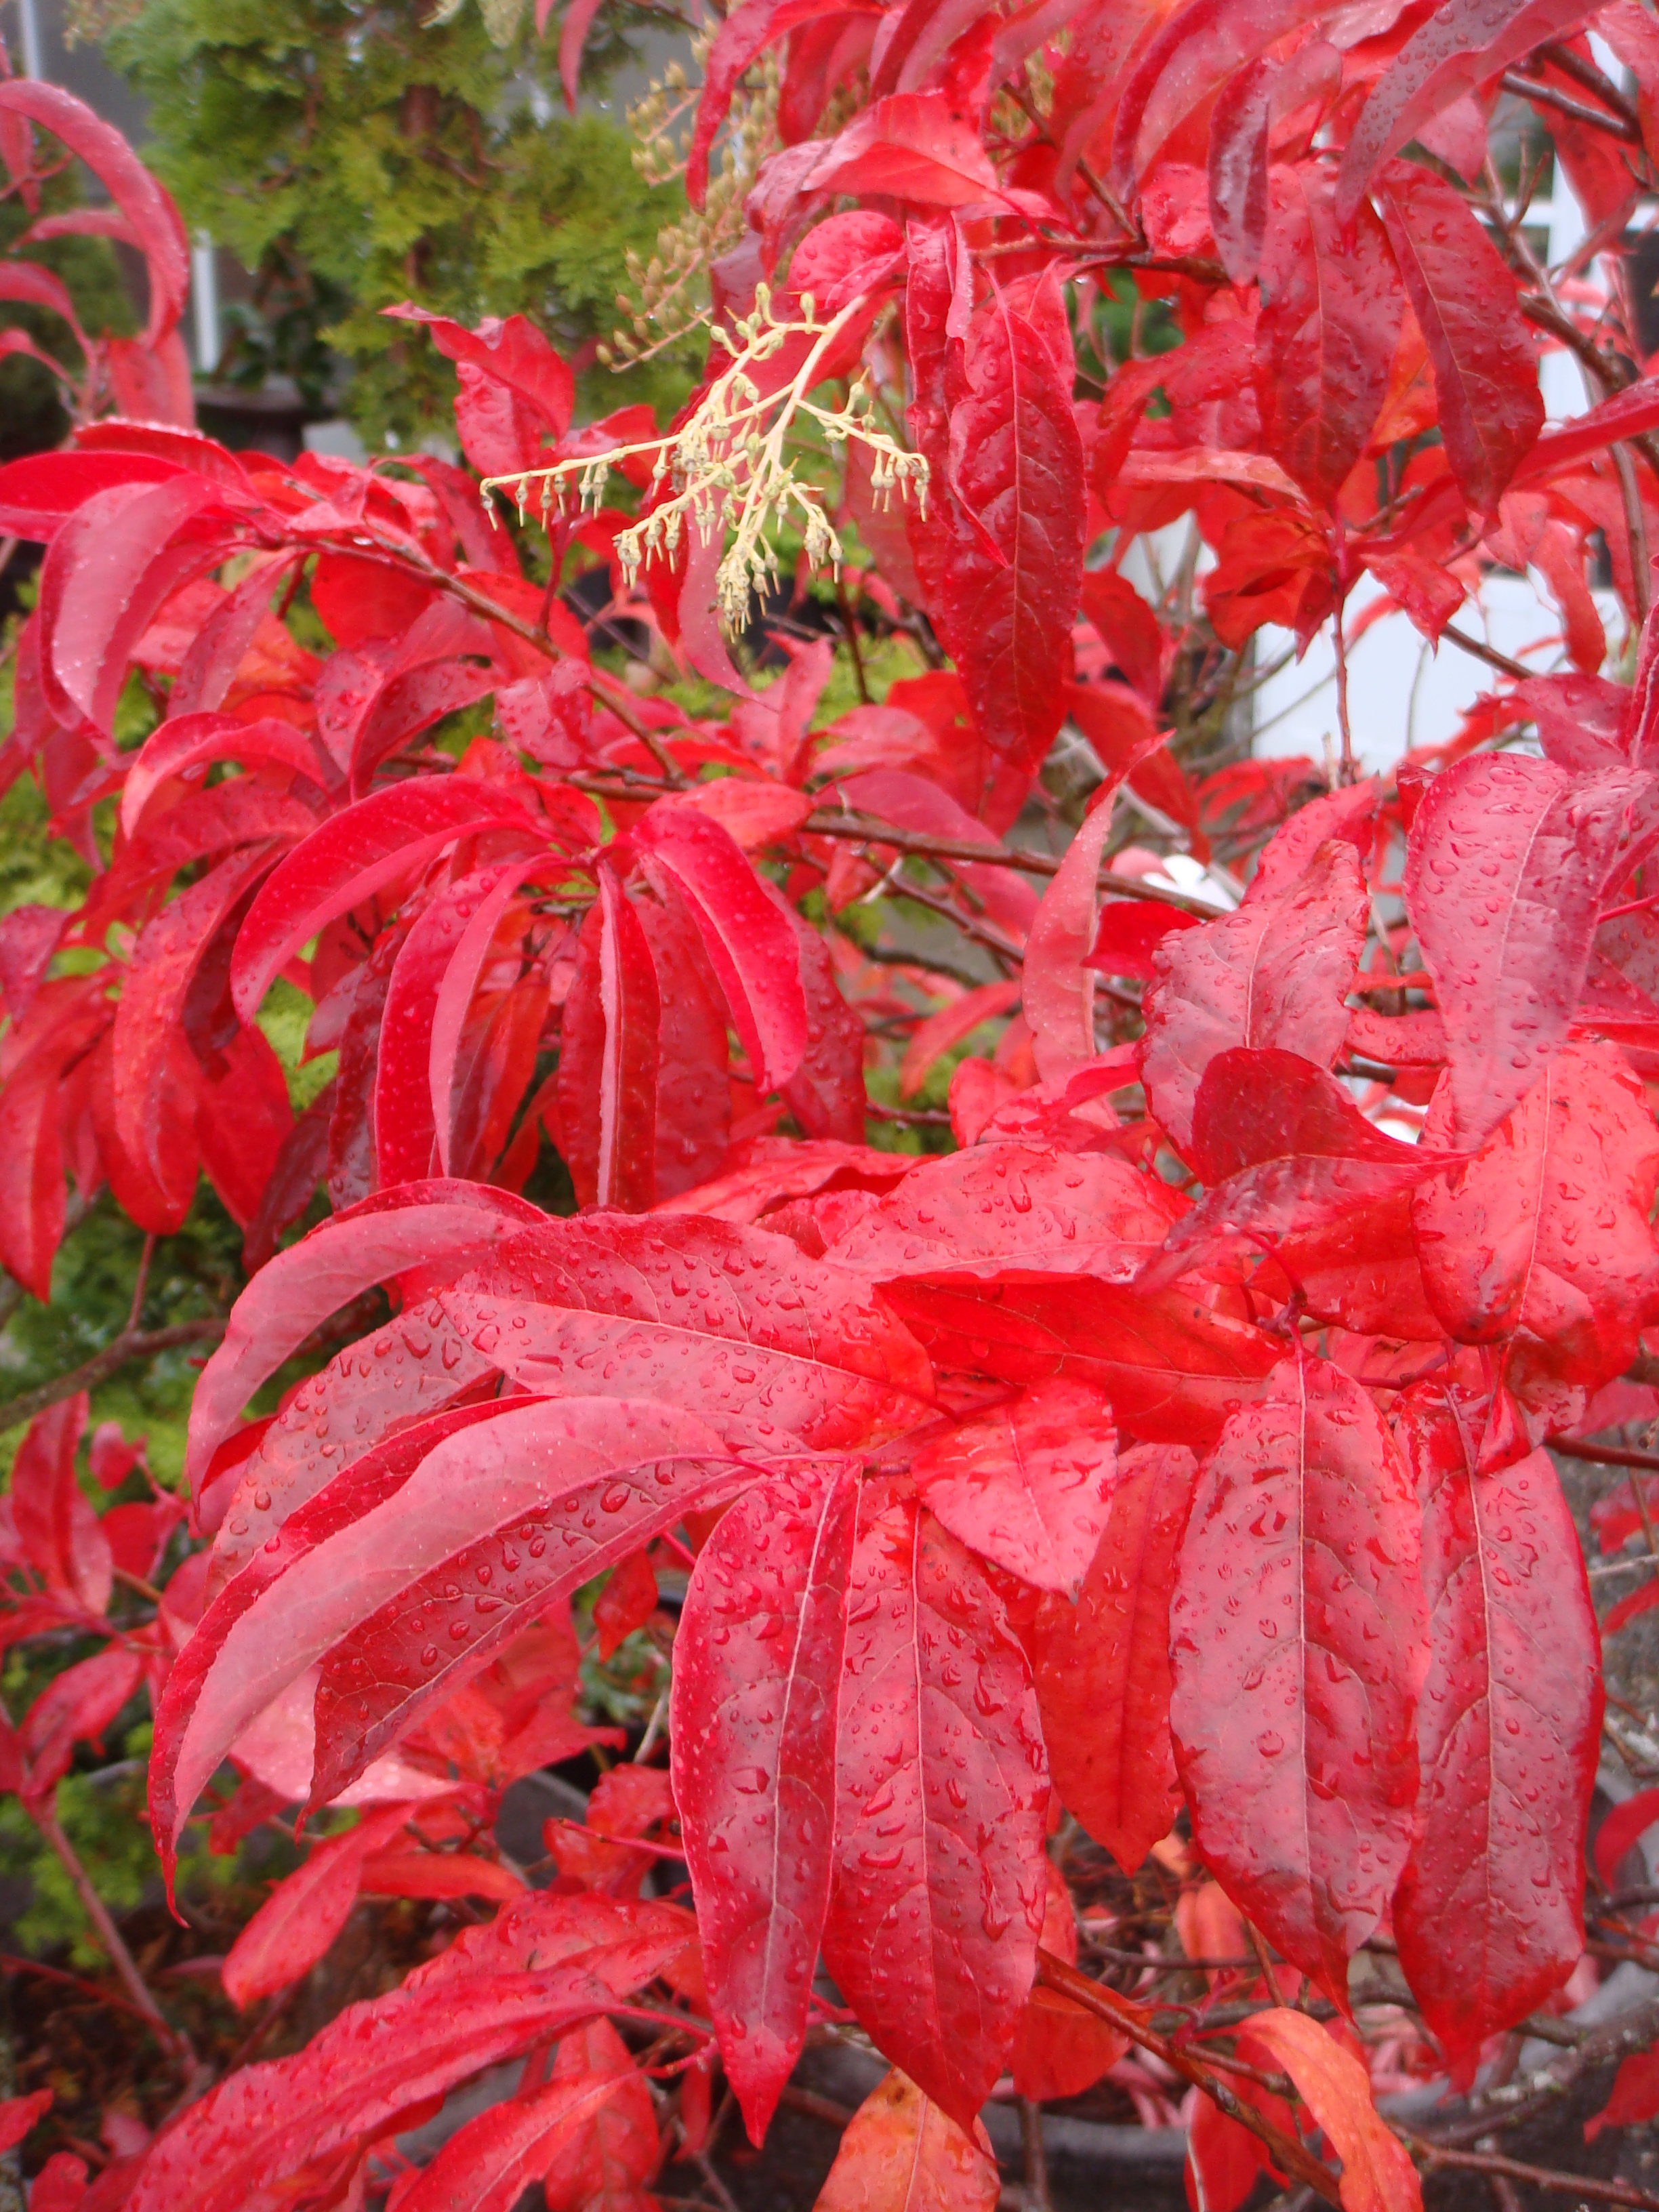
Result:
{"label": "bright red leaf arching leftward atop the drooping cluster at centre left", "polygon": [[529,814],[507,792],[469,776],[418,776],[358,799],[285,854],[237,940],[232,995],[243,1022],[252,1022],[281,969],[325,922],[414,876],[469,830],[520,830],[535,838]]}

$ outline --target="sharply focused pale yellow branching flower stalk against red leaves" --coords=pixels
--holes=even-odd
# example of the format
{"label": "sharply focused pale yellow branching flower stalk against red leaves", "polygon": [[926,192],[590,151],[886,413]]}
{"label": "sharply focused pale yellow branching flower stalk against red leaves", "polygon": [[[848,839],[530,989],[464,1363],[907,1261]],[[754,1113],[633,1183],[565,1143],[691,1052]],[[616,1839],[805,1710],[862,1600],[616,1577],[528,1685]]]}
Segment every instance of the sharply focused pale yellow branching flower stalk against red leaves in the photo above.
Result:
{"label": "sharply focused pale yellow branching flower stalk against red leaves", "polygon": [[[584,460],[560,460],[549,469],[526,469],[520,476],[491,476],[482,491],[507,491],[522,520],[531,484],[540,484],[540,507],[542,518],[546,518],[555,504],[560,513],[566,511],[566,482],[575,476],[580,507],[597,511],[611,471],[622,460],[655,456],[650,493],[655,498],[664,484],[670,484],[672,495],[617,535],[622,573],[633,584],[650,555],[672,560],[688,526],[697,529],[701,544],[708,544],[717,531],[732,529],[732,542],[719,564],[717,602],[723,628],[737,635],[748,619],[752,593],[779,575],[768,520],[781,526],[796,511],[807,562],[814,568],[825,564],[841,568],[841,538],[814,489],[796,478],[794,462],[785,451],[799,422],[814,422],[830,445],[858,438],[874,458],[874,493],[887,502],[898,489],[898,495],[907,500],[914,484],[922,513],[927,511],[927,460],[920,453],[907,453],[887,431],[876,429],[872,420],[874,396],[863,374],[852,385],[845,407],[821,407],[810,398],[836,338],[867,312],[869,294],[860,292],[827,323],[821,323],[807,292],[801,299],[799,321],[776,321],[770,292],[759,285],[754,312],[737,323],[739,349],[730,367],[714,378],[697,411],[677,434],[619,445]],[[814,343],[794,380],[768,392],[752,372],[763,367],[790,338],[812,338]]]}

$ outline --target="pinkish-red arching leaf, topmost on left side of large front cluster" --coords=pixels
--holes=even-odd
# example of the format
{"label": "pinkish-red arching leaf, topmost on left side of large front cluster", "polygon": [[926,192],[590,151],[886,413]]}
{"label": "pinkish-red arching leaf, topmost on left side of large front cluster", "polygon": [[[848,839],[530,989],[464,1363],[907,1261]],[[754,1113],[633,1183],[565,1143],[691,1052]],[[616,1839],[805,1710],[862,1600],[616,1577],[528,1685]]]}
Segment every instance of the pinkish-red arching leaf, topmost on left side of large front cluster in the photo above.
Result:
{"label": "pinkish-red arching leaf, topmost on left side of large front cluster", "polygon": [[544,1217],[480,1183],[405,1183],[312,1230],[263,1267],[230,1316],[190,1405],[186,1475],[201,1491],[208,1462],[259,1385],[341,1305],[407,1267],[484,1252]]}

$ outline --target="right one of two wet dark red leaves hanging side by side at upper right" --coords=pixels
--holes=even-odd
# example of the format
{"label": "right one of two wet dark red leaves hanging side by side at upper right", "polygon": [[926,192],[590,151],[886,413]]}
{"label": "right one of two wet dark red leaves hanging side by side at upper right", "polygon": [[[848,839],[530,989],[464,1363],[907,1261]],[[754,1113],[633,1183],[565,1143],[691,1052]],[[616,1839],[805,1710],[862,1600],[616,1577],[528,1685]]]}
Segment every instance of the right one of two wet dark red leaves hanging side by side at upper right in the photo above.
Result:
{"label": "right one of two wet dark red leaves hanging side by side at upper right", "polygon": [[1464,197],[1427,168],[1389,170],[1383,221],[1433,363],[1447,462],[1469,504],[1495,515],[1544,427],[1515,279]]}

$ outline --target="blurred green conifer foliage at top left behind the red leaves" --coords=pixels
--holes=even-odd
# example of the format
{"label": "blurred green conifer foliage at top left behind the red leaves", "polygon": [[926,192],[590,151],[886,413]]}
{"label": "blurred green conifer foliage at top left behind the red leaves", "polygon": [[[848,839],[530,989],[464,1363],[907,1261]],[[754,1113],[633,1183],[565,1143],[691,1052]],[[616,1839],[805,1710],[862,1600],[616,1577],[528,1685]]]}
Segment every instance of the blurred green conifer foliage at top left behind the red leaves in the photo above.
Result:
{"label": "blurred green conifer foliage at top left behind the red leaves", "polygon": [[[628,58],[626,13],[595,27],[584,97]],[[372,445],[451,425],[449,367],[383,307],[531,314],[580,347],[684,206],[635,173],[619,122],[566,115],[557,22],[544,42],[529,11],[498,46],[480,9],[434,22],[429,0],[146,0],[106,46],[150,102],[146,159],[281,310],[279,365],[314,363],[321,334]],[[677,383],[672,363],[595,372],[593,405]]]}

